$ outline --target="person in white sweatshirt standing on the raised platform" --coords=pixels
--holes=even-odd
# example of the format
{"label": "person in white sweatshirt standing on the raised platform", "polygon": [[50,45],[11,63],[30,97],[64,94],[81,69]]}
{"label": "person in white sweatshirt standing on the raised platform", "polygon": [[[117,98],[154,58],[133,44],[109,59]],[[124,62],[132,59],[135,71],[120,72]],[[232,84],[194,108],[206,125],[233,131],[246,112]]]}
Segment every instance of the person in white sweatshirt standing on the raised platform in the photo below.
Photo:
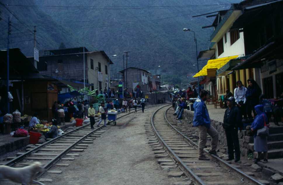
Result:
{"label": "person in white sweatshirt standing on the raised platform", "polygon": [[237,81],[237,88],[234,90],[234,98],[237,106],[241,110],[242,117],[244,116],[244,120],[247,118],[246,113],[246,91],[247,88],[243,86],[242,82]]}

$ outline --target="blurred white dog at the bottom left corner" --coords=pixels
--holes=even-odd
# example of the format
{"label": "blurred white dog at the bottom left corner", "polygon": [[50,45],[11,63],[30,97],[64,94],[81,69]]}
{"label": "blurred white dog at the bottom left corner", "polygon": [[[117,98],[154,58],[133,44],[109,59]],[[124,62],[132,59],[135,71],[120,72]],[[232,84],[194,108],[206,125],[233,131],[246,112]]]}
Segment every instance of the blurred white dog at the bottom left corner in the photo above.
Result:
{"label": "blurred white dog at the bottom left corner", "polygon": [[13,182],[21,183],[22,185],[44,185],[39,181],[33,180],[37,172],[44,172],[44,168],[41,167],[40,162],[34,162],[32,165],[23,168],[0,165],[0,179],[10,179]]}

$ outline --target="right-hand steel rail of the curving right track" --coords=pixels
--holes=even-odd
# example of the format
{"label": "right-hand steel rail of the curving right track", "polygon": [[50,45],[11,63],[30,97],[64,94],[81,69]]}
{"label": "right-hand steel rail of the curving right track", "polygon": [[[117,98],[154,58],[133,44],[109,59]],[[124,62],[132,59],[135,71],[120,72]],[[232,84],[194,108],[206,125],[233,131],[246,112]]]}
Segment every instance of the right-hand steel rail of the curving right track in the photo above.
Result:
{"label": "right-hand steel rail of the curving right track", "polygon": [[[168,111],[169,109],[170,109],[170,107],[169,107],[169,108],[165,111],[165,113],[164,113],[164,117],[165,117],[166,122],[170,125],[171,128],[173,128],[176,132],[178,132],[178,134],[180,134],[181,136],[183,136],[183,138],[185,138],[187,141],[189,141],[189,142],[192,143],[193,145],[199,147],[197,143],[195,143],[195,142],[192,141],[190,138],[188,138],[187,136],[185,136],[183,133],[181,133],[180,131],[178,131],[178,130],[169,122],[169,120],[168,120],[167,117],[166,117],[166,113],[167,113],[167,111]],[[239,169],[233,167],[233,166],[230,165],[228,162],[224,161],[223,159],[219,158],[218,156],[210,154],[206,149],[204,149],[204,152],[207,153],[208,155],[210,155],[211,157],[213,157],[214,159],[220,161],[221,163],[223,163],[223,164],[226,165],[227,167],[231,168],[232,170],[234,170],[234,171],[237,172],[238,174],[240,174],[240,175],[246,177],[247,179],[253,181],[254,183],[259,184],[259,185],[264,185],[263,183],[259,182],[258,180],[256,180],[256,179],[250,177],[249,175],[245,174],[242,170],[239,170]]]}

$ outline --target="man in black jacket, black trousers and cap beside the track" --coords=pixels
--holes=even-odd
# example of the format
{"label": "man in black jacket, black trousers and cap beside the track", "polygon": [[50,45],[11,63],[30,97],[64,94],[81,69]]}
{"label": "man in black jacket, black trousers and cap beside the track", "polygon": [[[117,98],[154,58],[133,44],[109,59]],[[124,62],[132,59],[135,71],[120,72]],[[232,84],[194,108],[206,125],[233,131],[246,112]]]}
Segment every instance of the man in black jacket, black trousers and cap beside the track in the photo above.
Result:
{"label": "man in black jacket, black trousers and cap beside the track", "polygon": [[228,146],[228,159],[234,159],[235,148],[235,162],[240,161],[240,146],[238,139],[238,128],[242,129],[242,115],[240,109],[235,106],[235,98],[230,97],[227,99],[228,108],[225,111],[223,128],[225,130],[227,146]]}

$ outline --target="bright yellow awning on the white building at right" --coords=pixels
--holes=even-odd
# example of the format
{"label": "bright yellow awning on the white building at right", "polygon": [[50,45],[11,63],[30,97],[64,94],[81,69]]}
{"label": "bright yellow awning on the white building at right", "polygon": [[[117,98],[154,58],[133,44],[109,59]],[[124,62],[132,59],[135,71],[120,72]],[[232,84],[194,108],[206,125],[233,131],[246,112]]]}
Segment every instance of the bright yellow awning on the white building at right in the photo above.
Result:
{"label": "bright yellow awning on the white building at right", "polygon": [[201,76],[215,76],[216,75],[216,70],[221,68],[223,65],[225,65],[229,60],[232,60],[234,58],[237,58],[239,55],[235,56],[228,56],[228,57],[223,57],[223,58],[217,58],[217,59],[212,59],[208,60],[207,64],[200,70],[195,76],[193,77],[201,77]]}

